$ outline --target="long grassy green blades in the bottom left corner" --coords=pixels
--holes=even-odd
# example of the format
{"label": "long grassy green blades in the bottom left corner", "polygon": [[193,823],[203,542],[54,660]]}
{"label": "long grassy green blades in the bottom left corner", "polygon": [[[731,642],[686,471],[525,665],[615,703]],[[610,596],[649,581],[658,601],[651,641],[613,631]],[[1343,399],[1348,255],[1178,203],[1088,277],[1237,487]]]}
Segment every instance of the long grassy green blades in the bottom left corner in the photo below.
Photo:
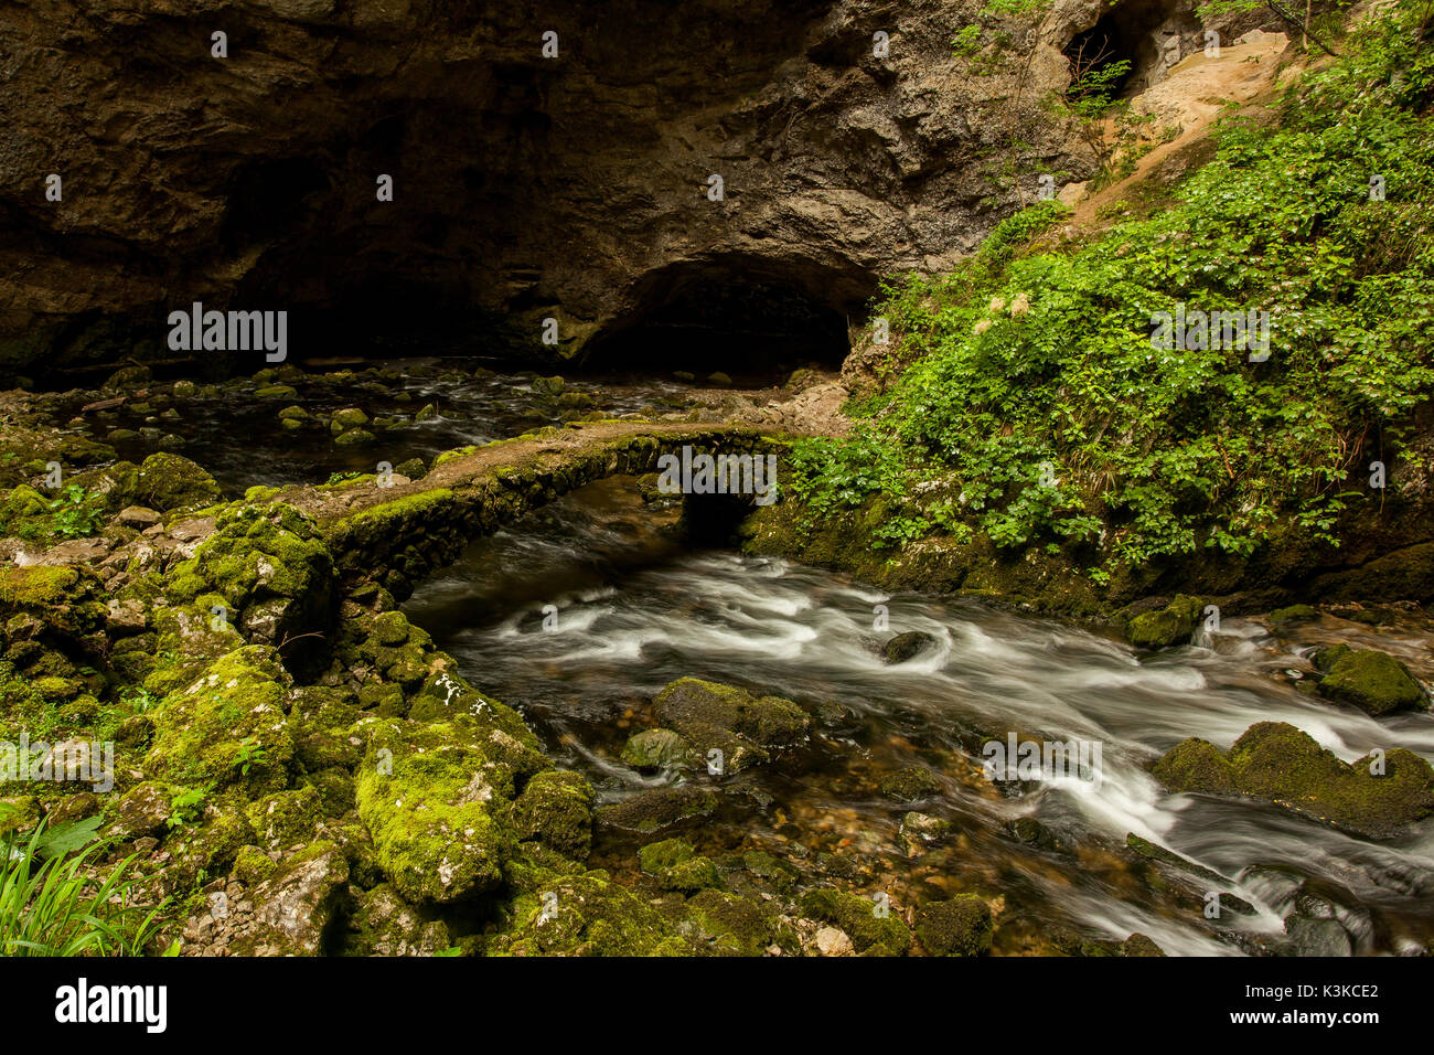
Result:
{"label": "long grassy green blades in the bottom left corner", "polygon": [[0,840],[0,956],[143,955],[165,903],[136,903],[133,855],[95,868],[108,844],[92,841],[92,820]]}

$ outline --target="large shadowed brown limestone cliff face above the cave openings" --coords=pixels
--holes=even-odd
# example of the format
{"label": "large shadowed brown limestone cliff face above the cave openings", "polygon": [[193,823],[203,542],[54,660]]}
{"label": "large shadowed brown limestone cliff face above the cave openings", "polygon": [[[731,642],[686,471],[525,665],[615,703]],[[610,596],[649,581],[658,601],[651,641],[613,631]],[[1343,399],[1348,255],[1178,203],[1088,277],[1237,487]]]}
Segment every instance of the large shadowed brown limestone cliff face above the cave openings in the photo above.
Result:
{"label": "large shadowed brown limestone cliff face above the cave openings", "polygon": [[880,271],[949,264],[1040,172],[1090,175],[1041,99],[1097,9],[1012,22],[977,75],[951,44],[977,6],[945,0],[22,4],[0,363],[174,355],[195,300],[288,310],[298,355],[440,317],[533,355],[555,317],[561,355],[597,355],[724,290],[845,333]]}

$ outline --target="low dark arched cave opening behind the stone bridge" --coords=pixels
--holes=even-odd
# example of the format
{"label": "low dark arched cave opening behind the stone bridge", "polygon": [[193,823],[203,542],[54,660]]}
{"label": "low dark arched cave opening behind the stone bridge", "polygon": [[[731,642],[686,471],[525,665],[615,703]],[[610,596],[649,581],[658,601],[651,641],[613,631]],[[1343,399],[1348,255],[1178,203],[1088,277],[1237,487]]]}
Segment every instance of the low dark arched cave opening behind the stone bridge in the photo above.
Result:
{"label": "low dark arched cave opening behind the stone bridge", "polygon": [[766,385],[802,366],[835,370],[852,350],[849,313],[875,283],[855,271],[783,273],[749,260],[683,261],[644,276],[618,320],[588,342],[605,372],[721,372]]}

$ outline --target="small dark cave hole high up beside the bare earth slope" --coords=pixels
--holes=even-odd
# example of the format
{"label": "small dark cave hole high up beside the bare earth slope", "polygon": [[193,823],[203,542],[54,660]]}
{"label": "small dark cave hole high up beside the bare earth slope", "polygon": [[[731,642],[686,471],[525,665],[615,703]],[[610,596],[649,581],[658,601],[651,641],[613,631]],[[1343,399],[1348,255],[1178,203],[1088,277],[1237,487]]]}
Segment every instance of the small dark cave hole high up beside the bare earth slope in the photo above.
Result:
{"label": "small dark cave hole high up beside the bare earth slope", "polygon": [[[1139,95],[1199,40],[1200,23],[1170,0],[1124,0],[1070,39],[1073,99],[1101,92],[1107,99]],[[1123,65],[1123,67],[1121,67]]]}

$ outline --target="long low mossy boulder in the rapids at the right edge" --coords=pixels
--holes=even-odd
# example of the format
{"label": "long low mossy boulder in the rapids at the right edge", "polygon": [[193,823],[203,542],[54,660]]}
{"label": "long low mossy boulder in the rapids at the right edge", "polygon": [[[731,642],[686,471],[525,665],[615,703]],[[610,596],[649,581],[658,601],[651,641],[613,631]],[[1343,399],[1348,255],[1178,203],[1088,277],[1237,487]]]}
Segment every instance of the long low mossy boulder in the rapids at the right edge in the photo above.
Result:
{"label": "long low mossy boulder in the rapids at the right edge", "polygon": [[1177,744],[1154,775],[1172,791],[1252,795],[1347,831],[1381,838],[1434,812],[1434,769],[1411,751],[1339,761],[1286,722],[1259,722],[1229,755],[1199,739]]}

